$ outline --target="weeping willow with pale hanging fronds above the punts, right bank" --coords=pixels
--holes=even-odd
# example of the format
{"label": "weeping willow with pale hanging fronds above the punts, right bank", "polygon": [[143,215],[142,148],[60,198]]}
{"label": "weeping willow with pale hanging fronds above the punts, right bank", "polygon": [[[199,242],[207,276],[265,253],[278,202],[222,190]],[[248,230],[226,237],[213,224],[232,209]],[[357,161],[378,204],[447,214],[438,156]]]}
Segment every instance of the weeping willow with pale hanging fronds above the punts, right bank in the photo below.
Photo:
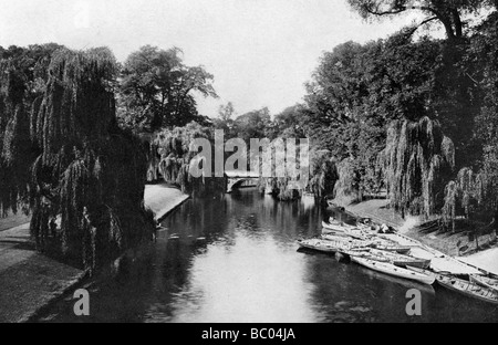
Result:
{"label": "weeping willow with pale hanging fronds above the punts, right bank", "polygon": [[380,163],[396,210],[428,217],[440,209],[455,149],[437,121],[425,116],[417,122],[393,122]]}

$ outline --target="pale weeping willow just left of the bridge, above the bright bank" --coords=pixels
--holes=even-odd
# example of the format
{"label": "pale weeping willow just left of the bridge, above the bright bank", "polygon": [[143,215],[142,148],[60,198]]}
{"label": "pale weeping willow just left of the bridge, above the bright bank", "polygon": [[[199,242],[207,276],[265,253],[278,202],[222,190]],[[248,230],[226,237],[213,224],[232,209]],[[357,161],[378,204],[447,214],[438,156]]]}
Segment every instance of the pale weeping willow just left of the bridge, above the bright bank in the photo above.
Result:
{"label": "pale weeping willow just left of the bridge, above the bright bank", "polygon": [[[166,182],[179,186],[184,192],[194,196],[224,194],[227,187],[225,177],[215,177],[214,171],[210,177],[189,174],[190,163],[197,156],[197,151],[190,150],[190,144],[196,138],[212,142],[210,128],[191,122],[184,127],[159,132],[151,145],[149,165]],[[214,153],[211,157],[215,157]]]}

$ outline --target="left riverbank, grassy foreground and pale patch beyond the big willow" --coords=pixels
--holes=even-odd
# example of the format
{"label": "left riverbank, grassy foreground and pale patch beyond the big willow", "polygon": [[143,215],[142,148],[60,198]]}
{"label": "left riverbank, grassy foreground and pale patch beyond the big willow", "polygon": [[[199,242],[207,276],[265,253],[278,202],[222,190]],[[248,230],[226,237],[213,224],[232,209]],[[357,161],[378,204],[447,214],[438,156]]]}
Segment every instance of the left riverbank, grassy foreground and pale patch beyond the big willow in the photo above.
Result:
{"label": "left riverbank, grassy foreground and pale patch beyond the big willow", "polygon": [[[166,185],[147,185],[145,205],[164,218],[189,198]],[[85,272],[35,251],[29,217],[0,219],[0,323],[27,322],[74,288]]]}

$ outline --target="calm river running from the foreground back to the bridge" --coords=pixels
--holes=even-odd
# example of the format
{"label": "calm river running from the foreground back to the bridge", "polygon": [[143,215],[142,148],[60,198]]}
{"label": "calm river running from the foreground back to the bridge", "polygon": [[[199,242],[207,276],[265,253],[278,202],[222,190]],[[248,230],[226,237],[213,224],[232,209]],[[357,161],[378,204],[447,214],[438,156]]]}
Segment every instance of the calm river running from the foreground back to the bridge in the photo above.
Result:
{"label": "calm river running from the foreground back to the bridge", "polygon": [[[75,316],[69,295],[39,321],[498,321],[495,306],[439,286],[298,250],[297,240],[318,236],[330,215],[351,221],[312,201],[279,202],[255,189],[190,199],[163,221],[157,241],[128,270],[89,284],[90,316]],[[419,316],[406,313],[413,288],[422,293]]]}

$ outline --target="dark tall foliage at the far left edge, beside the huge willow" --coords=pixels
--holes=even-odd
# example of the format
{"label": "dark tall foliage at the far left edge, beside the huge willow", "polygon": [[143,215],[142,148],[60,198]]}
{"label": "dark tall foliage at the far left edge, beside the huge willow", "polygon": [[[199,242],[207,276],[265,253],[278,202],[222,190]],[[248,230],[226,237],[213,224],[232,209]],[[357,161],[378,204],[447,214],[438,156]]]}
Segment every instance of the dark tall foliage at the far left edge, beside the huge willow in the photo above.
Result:
{"label": "dark tall foliage at the far left edge, beside the huge willow", "polygon": [[38,155],[30,134],[34,98],[44,92],[56,44],[0,48],[0,212],[29,211],[29,169]]}

